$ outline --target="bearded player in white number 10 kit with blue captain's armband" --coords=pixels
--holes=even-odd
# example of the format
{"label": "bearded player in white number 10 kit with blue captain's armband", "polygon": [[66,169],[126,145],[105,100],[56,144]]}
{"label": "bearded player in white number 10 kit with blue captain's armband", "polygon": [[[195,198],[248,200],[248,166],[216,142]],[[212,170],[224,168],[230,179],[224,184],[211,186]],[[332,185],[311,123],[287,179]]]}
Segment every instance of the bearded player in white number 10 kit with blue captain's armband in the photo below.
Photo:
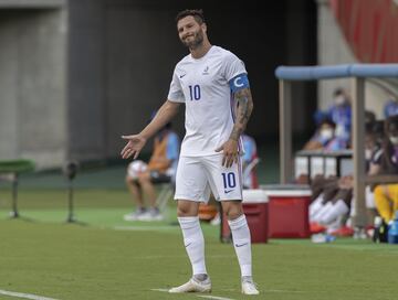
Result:
{"label": "bearded player in white number 10 kit with blue captain's armband", "polygon": [[128,140],[122,157],[136,159],[146,141],[186,106],[186,136],[177,168],[177,214],[192,265],[191,279],[169,292],[208,292],[211,281],[205,264],[205,239],[199,203],[210,189],[227,214],[241,269],[244,294],[258,294],[252,278],[251,237],[242,210],[241,135],[253,109],[247,71],[231,52],[211,45],[201,10],[178,13],[177,31],[189,49],[175,67],[169,94],[153,121]]}

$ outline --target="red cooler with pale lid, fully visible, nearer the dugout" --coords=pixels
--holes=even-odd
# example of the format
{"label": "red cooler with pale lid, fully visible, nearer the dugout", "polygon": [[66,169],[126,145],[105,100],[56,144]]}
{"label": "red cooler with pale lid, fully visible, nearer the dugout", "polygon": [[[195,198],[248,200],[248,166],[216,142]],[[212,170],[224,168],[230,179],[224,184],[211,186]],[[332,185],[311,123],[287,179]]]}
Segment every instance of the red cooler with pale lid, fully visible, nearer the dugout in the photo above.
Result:
{"label": "red cooler with pale lid, fully visible, nearer the dugout", "polygon": [[269,237],[310,237],[311,190],[300,185],[264,185],[262,188],[269,196]]}

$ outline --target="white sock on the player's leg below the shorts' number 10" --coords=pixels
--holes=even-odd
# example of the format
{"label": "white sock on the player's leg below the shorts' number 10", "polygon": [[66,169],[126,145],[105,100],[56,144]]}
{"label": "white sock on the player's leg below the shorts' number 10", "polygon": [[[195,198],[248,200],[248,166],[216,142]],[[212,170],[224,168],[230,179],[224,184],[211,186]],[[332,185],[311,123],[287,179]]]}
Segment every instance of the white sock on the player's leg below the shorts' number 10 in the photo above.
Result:
{"label": "white sock on the player's leg below the shorts' number 10", "polygon": [[248,222],[244,215],[228,221],[231,228],[233,247],[235,249],[241,274],[243,276],[252,276],[251,264],[251,238]]}

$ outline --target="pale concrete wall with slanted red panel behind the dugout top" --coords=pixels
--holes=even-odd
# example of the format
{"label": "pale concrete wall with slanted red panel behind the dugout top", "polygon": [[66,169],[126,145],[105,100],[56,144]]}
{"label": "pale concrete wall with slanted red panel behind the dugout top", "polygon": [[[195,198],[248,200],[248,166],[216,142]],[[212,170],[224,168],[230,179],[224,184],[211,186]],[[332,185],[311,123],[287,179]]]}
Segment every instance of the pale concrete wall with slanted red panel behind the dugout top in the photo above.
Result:
{"label": "pale concrete wall with slanted red panel behind the dugout top", "polygon": [[[376,54],[391,51],[380,41],[385,38],[385,32],[398,24],[392,17],[394,11],[398,9],[397,4],[385,0],[317,0],[316,3],[318,65],[396,63],[394,53],[385,56]],[[385,17],[380,18],[381,15]],[[390,40],[398,40],[394,38],[396,36],[394,34],[389,36],[391,36]],[[389,43],[394,44],[394,42]],[[390,88],[386,89],[384,86]],[[350,81],[318,82],[318,108],[325,109],[332,104],[332,94],[336,87],[344,87],[350,92]],[[373,110],[377,118],[383,118],[383,107],[394,96],[394,92],[398,92],[394,84],[381,82],[375,85],[367,82],[366,108]]]}

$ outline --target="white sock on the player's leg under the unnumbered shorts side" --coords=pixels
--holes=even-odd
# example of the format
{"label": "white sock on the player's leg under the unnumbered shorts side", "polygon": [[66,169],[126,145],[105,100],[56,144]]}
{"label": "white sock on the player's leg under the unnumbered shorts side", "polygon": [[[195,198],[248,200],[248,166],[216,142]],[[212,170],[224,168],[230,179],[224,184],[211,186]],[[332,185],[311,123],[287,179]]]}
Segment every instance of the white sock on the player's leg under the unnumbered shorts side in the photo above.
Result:
{"label": "white sock on the player's leg under the unnumbered shorts side", "polygon": [[207,274],[205,264],[205,238],[200,227],[198,216],[178,217],[180,224],[184,245],[189,260],[192,265],[192,274]]}

